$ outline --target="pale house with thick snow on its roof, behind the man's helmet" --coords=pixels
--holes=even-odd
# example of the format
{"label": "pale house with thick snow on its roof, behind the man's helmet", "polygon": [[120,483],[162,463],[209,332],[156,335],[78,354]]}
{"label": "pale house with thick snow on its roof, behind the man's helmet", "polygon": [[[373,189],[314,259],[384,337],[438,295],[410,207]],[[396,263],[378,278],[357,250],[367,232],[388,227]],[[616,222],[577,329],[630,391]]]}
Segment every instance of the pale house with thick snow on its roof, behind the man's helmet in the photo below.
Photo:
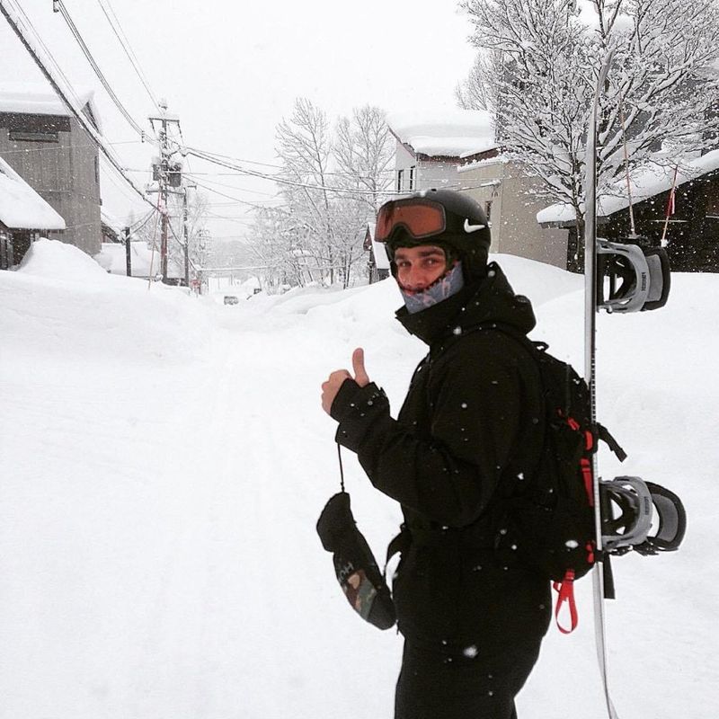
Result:
{"label": "pale house with thick snow on its roof, behind the man's helmet", "polygon": [[492,224],[492,252],[566,266],[566,233],[537,225],[537,181],[502,155],[492,115],[484,111],[390,114],[397,140],[395,191],[466,191]]}

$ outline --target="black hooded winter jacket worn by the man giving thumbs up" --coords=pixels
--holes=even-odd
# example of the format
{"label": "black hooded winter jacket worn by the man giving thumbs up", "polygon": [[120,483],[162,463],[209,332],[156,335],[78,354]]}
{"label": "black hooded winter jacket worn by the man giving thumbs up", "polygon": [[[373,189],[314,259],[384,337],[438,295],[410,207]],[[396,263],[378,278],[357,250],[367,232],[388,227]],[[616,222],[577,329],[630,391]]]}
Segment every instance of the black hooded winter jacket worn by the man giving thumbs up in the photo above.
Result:
{"label": "black hooded winter jacket worn by the man giving thumbs up", "polygon": [[549,620],[548,582],[519,562],[502,498],[530,479],[545,414],[536,361],[497,326],[528,333],[531,305],[493,263],[479,287],[397,317],[430,345],[398,418],[375,384],[352,380],[332,415],[337,441],[402,504],[410,543],[393,586],[399,627],[431,644],[537,640]]}

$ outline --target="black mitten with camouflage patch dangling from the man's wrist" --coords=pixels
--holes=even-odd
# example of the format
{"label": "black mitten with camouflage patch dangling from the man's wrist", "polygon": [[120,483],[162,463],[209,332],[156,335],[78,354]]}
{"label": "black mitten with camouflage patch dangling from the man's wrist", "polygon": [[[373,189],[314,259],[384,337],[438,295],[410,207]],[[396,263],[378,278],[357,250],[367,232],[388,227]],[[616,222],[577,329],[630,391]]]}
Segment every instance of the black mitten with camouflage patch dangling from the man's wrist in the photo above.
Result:
{"label": "black mitten with camouflage patch dangling from the man's wrist", "polygon": [[335,494],[317,520],[322,546],[333,553],[334,573],[360,617],[380,629],[395,624],[395,605],[372,550],[357,528],[350,495]]}

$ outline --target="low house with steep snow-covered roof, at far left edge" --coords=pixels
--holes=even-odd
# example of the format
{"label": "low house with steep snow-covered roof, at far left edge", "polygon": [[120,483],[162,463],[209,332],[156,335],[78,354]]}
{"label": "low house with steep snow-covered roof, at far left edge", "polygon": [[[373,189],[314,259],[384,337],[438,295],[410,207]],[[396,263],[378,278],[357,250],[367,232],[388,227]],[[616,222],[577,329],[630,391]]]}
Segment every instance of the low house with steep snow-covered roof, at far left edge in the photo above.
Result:
{"label": "low house with steep snow-covered roof, at far left edge", "polygon": [[65,220],[0,157],[0,270],[19,264],[33,240]]}

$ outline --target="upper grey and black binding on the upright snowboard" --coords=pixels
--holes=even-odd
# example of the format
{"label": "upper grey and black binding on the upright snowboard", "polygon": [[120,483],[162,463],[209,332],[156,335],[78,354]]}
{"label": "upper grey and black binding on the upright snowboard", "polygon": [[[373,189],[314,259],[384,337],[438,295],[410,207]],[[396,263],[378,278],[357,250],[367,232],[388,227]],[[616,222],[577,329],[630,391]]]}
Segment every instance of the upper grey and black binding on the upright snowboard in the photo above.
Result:
{"label": "upper grey and black binding on the upright snowboard", "polygon": [[644,312],[667,304],[669,257],[661,247],[597,239],[597,306],[608,312]]}

